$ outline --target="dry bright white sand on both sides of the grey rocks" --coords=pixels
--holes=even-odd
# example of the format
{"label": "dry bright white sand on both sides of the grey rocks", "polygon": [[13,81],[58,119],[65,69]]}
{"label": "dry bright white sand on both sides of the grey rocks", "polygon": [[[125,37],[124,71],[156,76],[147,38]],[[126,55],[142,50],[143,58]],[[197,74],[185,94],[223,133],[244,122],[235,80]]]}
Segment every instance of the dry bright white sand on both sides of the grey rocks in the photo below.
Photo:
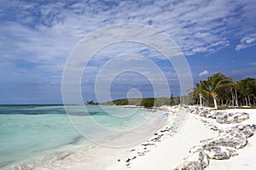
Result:
{"label": "dry bright white sand on both sides of the grey rocks", "polygon": [[[169,111],[172,111],[172,108],[169,108]],[[183,164],[183,158],[188,156],[189,150],[200,144],[201,140],[218,138],[218,131],[215,128],[224,129],[240,124],[256,124],[255,109],[232,109],[219,112],[246,112],[250,118],[239,123],[225,124],[204,116],[188,114],[183,126],[178,129],[177,133],[162,133],[163,137],[160,138],[160,141],[154,143],[154,147],[147,148],[145,154],[139,155],[138,153],[142,151],[141,145],[152,143],[150,139],[147,140],[145,143],[128,151],[125,160],[120,160],[107,169],[174,169]],[[170,124],[173,125],[172,114],[169,119]],[[256,156],[256,136],[249,138],[247,145],[241,150],[237,150],[236,154],[238,155],[231,156],[228,160],[211,159],[206,169],[253,169],[253,167],[256,167],[256,163],[253,160]]]}

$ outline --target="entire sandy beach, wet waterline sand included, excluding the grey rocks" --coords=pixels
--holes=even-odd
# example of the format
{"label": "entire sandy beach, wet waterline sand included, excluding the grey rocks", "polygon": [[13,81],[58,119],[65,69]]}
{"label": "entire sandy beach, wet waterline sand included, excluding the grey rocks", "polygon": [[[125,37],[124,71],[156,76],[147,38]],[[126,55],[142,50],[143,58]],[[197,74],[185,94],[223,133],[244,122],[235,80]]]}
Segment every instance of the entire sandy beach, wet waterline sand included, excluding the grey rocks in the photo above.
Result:
{"label": "entire sandy beach, wet waterline sand included, excluding the grey rocks", "polygon": [[[197,150],[201,146],[201,141],[207,139],[217,139],[221,129],[234,127],[237,125],[256,124],[256,109],[230,109],[216,110],[211,112],[249,112],[250,118],[244,119],[239,123],[218,123],[204,115],[204,111],[209,108],[200,108],[197,106],[162,106],[154,108],[154,114],[165,116],[168,112],[168,122],[157,132],[153,133],[145,141],[123,148],[109,148],[93,144],[89,148],[80,148],[79,150],[68,150],[61,154],[51,156],[49,159],[35,161],[34,164],[21,164],[6,169],[90,169],[90,170],[119,170],[119,169],[182,169],[183,166],[191,161],[189,152]],[[191,112],[197,113],[191,113]],[[183,113],[183,116],[178,116]],[[253,113],[255,113],[253,115]],[[253,115],[253,116],[252,116]],[[178,122],[180,121],[180,122]],[[218,120],[219,121],[219,120]],[[140,133],[137,132],[137,135]],[[122,136],[121,139],[129,139],[129,136]],[[252,139],[252,141],[251,141]],[[118,141],[118,140],[117,140]],[[121,140],[119,140],[120,142]],[[239,154],[230,156],[227,160],[210,159],[209,163],[203,169],[252,169],[256,166],[253,163],[253,150],[256,150],[256,136],[253,135],[248,143],[241,150],[236,150]],[[253,149],[253,150],[252,150]],[[241,154],[241,155],[240,155]],[[248,156],[249,154],[249,156]],[[251,157],[250,157],[251,156]],[[248,161],[247,157],[251,159]],[[196,154],[192,156],[197,159]],[[192,159],[192,160],[193,160]],[[240,160],[242,165],[240,165]],[[193,160],[195,161],[195,160]],[[236,166],[233,166],[236,165]],[[238,168],[240,165],[240,168]],[[25,167],[22,167],[25,166]],[[237,167],[237,168],[236,168]],[[247,168],[246,168],[247,167]]]}

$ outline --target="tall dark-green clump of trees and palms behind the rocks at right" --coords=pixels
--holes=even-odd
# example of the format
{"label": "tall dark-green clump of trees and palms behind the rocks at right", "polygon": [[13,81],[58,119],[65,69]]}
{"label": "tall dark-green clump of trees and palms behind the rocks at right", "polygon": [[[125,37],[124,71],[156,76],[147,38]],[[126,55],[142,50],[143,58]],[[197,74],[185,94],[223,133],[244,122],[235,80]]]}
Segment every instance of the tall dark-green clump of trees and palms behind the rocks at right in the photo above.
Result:
{"label": "tall dark-green clump of trees and palms behind the rocks at right", "polygon": [[256,79],[246,78],[238,82],[218,72],[207,80],[195,83],[188,94],[192,105],[214,106],[253,106],[256,105]]}

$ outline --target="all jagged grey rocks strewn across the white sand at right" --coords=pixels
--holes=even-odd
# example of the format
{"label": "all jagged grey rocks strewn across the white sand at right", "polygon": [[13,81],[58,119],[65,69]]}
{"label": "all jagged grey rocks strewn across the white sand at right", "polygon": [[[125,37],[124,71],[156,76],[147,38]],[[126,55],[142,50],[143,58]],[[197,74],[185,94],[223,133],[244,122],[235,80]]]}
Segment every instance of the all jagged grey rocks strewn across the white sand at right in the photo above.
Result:
{"label": "all jagged grey rocks strewn across the white sand at right", "polygon": [[[228,114],[212,113],[206,109],[189,110],[196,115],[216,118],[220,123],[241,122],[249,117],[247,113]],[[218,129],[218,138],[202,140],[200,145],[189,150],[189,156],[185,157],[175,170],[201,170],[209,165],[209,159],[225,160],[230,156],[236,156],[236,150],[247,144],[247,138],[251,137],[255,130],[256,125],[237,125],[224,130]]]}

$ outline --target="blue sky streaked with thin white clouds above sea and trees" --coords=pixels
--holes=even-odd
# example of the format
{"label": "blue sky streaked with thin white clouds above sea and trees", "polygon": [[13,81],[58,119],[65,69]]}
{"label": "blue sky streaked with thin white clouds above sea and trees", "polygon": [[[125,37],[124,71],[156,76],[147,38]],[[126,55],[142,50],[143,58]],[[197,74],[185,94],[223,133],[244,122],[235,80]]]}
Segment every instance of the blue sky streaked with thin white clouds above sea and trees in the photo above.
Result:
{"label": "blue sky streaked with thin white clouds above sea and trees", "polygon": [[[79,42],[127,23],[170,37],[187,60],[194,84],[218,71],[234,81],[256,75],[255,0],[0,1],[0,104],[61,104],[63,71]],[[109,37],[119,34],[108,32]],[[141,42],[110,44],[76,67],[84,68],[76,82],[84,102],[108,100],[98,99],[104,92],[110,99],[181,94],[183,76],[175,65]]]}

